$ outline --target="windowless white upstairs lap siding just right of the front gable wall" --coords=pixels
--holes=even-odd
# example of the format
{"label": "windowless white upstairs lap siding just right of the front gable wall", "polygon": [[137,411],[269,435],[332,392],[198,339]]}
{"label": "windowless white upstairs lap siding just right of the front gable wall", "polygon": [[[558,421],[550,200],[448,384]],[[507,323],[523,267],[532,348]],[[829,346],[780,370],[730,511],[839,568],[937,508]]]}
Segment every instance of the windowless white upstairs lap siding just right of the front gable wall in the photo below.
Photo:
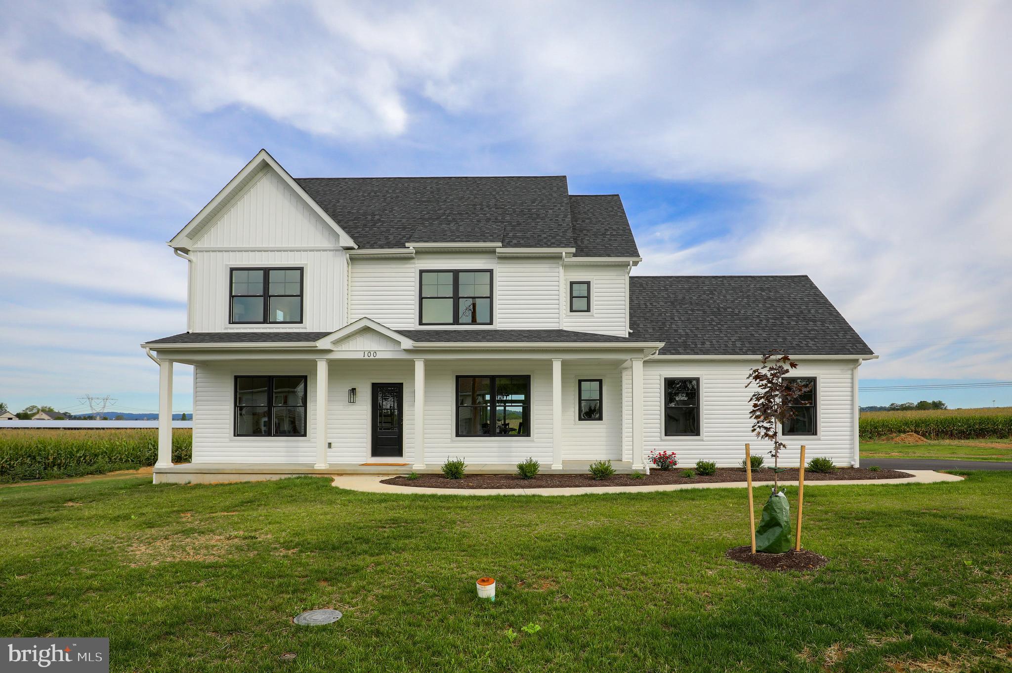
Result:
{"label": "windowless white upstairs lap siding just right of the front gable wall", "polygon": [[414,260],[354,258],[349,276],[349,322],[370,317],[392,329],[415,326]]}

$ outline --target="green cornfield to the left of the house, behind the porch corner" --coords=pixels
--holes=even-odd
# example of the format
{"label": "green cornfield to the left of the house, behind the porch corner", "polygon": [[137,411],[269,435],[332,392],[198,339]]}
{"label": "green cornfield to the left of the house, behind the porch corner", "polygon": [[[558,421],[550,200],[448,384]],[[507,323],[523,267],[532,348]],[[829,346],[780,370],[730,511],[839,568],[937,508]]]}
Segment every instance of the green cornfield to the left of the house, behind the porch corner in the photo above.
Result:
{"label": "green cornfield to the left of the house, behind the porch corner", "polygon": [[[172,430],[172,461],[189,462],[193,434]],[[155,428],[0,429],[0,482],[60,479],[154,465]]]}

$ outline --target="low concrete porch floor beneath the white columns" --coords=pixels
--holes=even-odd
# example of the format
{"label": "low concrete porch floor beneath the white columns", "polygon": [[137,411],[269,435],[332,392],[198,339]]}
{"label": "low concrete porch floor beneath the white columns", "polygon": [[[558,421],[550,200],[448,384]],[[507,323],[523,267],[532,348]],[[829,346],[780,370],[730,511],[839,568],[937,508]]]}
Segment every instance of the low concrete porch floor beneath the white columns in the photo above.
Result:
{"label": "low concrete porch floor beneath the white columns", "polygon": [[[371,461],[370,461],[371,462]],[[592,461],[563,461],[562,470],[553,470],[541,465],[541,473],[584,474]],[[427,464],[423,470],[415,470],[408,465],[361,465],[359,463],[334,463],[325,469],[317,469],[312,463],[180,463],[172,467],[156,467],[156,484],[209,484],[225,481],[267,481],[300,476],[334,475],[398,475],[418,472],[438,474],[439,464]],[[627,461],[611,461],[615,472],[631,472],[632,464]],[[512,474],[516,465],[505,463],[468,463],[470,474]]]}

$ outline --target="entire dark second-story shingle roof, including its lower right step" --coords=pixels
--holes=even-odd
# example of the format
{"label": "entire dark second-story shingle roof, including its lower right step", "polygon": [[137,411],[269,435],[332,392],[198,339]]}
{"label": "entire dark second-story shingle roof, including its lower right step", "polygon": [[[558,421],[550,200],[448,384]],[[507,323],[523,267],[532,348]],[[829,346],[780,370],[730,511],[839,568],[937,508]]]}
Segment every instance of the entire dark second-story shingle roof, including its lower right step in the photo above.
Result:
{"label": "entire dark second-story shingle roof, including its lower right step", "polygon": [[[616,195],[573,196],[566,176],[297,178],[359,248],[501,243],[639,257]],[[575,204],[579,214],[571,214]]]}

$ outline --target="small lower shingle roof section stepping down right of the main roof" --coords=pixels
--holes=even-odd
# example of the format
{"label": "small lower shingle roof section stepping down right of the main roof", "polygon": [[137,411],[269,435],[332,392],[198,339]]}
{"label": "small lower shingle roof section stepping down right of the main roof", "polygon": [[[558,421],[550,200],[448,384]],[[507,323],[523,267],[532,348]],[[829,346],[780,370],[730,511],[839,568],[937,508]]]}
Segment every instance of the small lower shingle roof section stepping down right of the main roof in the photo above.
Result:
{"label": "small lower shingle roof section stepping down right of the main roof", "polygon": [[576,257],[640,257],[617,194],[571,196]]}

